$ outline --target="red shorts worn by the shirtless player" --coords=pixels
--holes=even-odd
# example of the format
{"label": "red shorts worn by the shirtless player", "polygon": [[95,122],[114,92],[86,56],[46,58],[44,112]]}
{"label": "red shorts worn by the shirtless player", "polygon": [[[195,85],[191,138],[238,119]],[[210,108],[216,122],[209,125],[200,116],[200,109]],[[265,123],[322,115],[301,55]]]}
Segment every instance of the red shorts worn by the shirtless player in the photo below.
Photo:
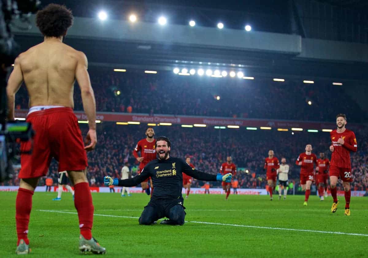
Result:
{"label": "red shorts worn by the shirtless player", "polygon": [[[81,171],[88,166],[82,133],[71,108],[36,111],[26,121],[32,124],[35,137],[32,154],[21,154],[19,178],[45,176],[53,157],[59,161],[58,171]],[[31,146],[31,141],[22,142],[21,151]]]}

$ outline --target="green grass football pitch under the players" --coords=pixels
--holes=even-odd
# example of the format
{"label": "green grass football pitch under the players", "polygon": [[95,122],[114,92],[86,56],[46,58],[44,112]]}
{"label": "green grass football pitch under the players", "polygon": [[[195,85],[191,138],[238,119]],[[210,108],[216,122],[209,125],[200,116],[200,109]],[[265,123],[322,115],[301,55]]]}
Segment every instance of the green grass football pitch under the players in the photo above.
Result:
{"label": "green grass football pitch under the players", "polygon": [[[106,247],[109,257],[368,255],[368,202],[363,197],[351,198],[348,217],[343,215],[344,197],[339,197],[339,208],[332,214],[331,197],[319,201],[311,196],[305,207],[304,196],[288,196],[286,201],[279,201],[275,195],[269,201],[268,196],[231,194],[225,201],[224,195],[192,194],[184,200],[187,208],[184,226],[139,226],[137,218],[129,217],[139,217],[149,201],[146,194],[123,198],[118,193],[92,196],[95,206],[92,234]],[[15,256],[15,197],[15,192],[0,192],[0,257]],[[79,257],[78,216],[72,197],[63,193],[61,201],[52,201],[54,197],[56,193],[38,192],[33,196],[28,234],[31,257]]]}

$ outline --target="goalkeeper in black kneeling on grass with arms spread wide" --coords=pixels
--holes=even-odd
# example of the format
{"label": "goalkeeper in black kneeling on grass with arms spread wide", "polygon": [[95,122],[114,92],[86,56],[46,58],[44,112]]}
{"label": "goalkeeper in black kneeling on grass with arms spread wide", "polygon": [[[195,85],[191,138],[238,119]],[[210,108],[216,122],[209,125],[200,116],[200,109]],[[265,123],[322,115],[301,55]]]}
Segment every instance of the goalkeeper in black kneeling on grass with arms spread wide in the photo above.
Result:
{"label": "goalkeeper in black kneeling on grass with arms spread wide", "polygon": [[105,176],[105,186],[131,187],[143,182],[151,176],[155,191],[139,217],[140,225],[151,225],[160,218],[168,218],[161,222],[167,225],[183,225],[185,218],[183,189],[183,172],[198,180],[231,182],[231,173],[212,175],[198,171],[180,158],[170,157],[171,142],[169,138],[160,136],[156,139],[158,159],[149,162],[142,172],[130,179],[112,179]]}

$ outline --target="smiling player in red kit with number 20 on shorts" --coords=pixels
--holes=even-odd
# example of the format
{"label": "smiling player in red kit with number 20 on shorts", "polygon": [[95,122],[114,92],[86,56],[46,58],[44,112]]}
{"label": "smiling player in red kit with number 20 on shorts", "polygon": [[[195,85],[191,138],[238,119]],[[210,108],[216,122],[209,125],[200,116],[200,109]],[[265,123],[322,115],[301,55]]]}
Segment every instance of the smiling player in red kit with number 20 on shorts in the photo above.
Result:
{"label": "smiling player in red kit with number 20 on shorts", "polygon": [[330,146],[331,164],[330,164],[330,187],[333,204],[331,212],[336,212],[339,201],[337,200],[337,180],[340,179],[344,184],[345,191],[345,212],[344,215],[350,216],[350,182],[351,182],[351,163],[350,151],[357,152],[357,138],[353,131],[345,128],[347,124],[346,115],[338,114],[336,116],[337,129],[330,132],[332,145]]}

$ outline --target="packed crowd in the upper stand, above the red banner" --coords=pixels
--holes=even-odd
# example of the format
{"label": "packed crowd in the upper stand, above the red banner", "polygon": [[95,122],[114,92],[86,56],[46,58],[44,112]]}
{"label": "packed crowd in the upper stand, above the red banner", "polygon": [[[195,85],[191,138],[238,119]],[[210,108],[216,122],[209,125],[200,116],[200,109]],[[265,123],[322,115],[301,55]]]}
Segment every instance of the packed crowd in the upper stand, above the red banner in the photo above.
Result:
{"label": "packed crowd in the upper stand, above the red banner", "polygon": [[[333,86],[330,82],[306,85],[302,80],[280,83],[257,78],[180,76],[169,71],[144,74],[96,68],[89,70],[97,110],[102,112],[325,122],[333,122],[337,110],[349,114],[350,122],[361,122],[361,114],[365,114],[342,86]],[[330,98],[332,91],[334,98]],[[217,96],[220,100],[216,99]],[[326,99],[329,100],[328,105]],[[345,100],[343,106],[340,99]],[[28,108],[24,86],[17,94],[15,103],[18,109]],[[74,87],[74,103],[75,110],[83,110],[77,84]]]}

